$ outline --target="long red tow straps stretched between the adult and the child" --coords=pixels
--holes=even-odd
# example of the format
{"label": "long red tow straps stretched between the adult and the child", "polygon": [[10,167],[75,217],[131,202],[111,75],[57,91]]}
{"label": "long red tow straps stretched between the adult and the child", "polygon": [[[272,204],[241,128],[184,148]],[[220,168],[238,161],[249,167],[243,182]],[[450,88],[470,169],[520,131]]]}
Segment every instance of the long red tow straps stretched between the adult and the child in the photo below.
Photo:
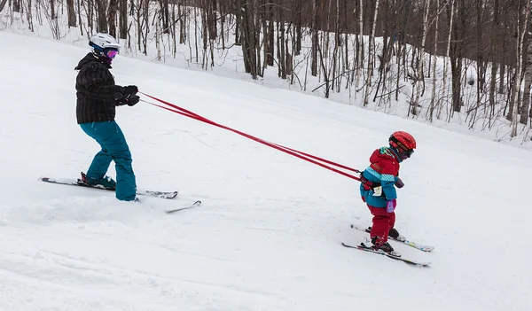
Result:
{"label": "long red tow straps stretched between the adult and the child", "polygon": [[[147,102],[145,100],[141,100],[141,101],[145,102],[146,104],[154,105],[154,106],[160,107],[162,109],[166,109],[166,110],[168,110],[168,111],[170,111],[172,113],[178,113],[178,114],[184,115],[185,117],[189,117],[189,118],[194,119],[194,120],[202,121],[202,122],[205,122],[207,124],[213,125],[213,126],[218,127],[218,128],[227,129],[227,130],[229,130],[231,132],[239,134],[240,136],[244,136],[246,138],[254,140],[255,142],[258,142],[258,143],[261,143],[261,144],[265,144],[265,145],[267,145],[267,146],[269,146],[271,148],[277,149],[278,151],[286,152],[286,153],[288,153],[290,155],[293,155],[294,157],[297,157],[297,158],[300,158],[300,159],[304,159],[306,161],[309,161],[310,163],[316,164],[317,166],[325,167],[326,169],[332,170],[332,172],[335,172],[335,173],[338,173],[340,175],[344,175],[346,177],[349,177],[349,178],[355,179],[357,181],[360,181],[360,178],[357,177],[356,175],[350,175],[350,174],[348,174],[346,172],[343,172],[343,171],[340,171],[339,169],[334,168],[334,167],[340,167],[340,168],[346,169],[348,171],[360,173],[360,171],[357,170],[356,168],[347,167],[347,166],[341,165],[339,163],[330,161],[328,159],[319,158],[317,156],[314,156],[314,155],[306,153],[306,152],[300,152],[298,150],[295,150],[295,149],[292,149],[292,148],[288,148],[288,147],[283,146],[281,144],[270,143],[270,142],[265,141],[265,140],[263,140],[263,139],[261,139],[259,137],[251,136],[249,134],[241,132],[238,129],[229,128],[229,127],[226,127],[226,126],[224,126],[222,124],[216,123],[215,121],[210,121],[207,118],[204,118],[204,117],[200,116],[197,113],[192,113],[190,110],[186,110],[186,109],[184,109],[184,108],[182,108],[180,106],[168,103],[167,101],[164,101],[164,100],[162,100],[160,98],[153,97],[153,96],[148,95],[148,94],[143,93],[143,92],[139,92],[139,93],[141,93],[141,94],[143,94],[143,95],[145,95],[147,97],[150,97],[150,98],[152,98],[152,99],[154,99],[154,100],[156,100],[156,101],[158,101],[158,102],[160,102],[160,103],[162,103],[164,105],[168,105],[169,107],[171,107],[173,109],[168,108],[167,106],[164,106],[164,105],[153,104],[153,103]],[[324,163],[320,163],[318,161],[324,162],[324,163],[329,164],[329,165],[334,166],[334,167],[325,165]]]}

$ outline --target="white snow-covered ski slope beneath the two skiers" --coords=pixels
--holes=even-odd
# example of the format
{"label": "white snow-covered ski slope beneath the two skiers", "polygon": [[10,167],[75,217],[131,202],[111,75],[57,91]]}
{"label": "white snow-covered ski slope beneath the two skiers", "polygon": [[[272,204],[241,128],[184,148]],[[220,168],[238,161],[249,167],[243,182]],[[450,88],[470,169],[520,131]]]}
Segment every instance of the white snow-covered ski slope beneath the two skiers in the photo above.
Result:
{"label": "white snow-covered ski slope beneath the two skiers", "polygon": [[[419,268],[347,249],[371,215],[358,183],[153,105],[119,107],[139,188],[179,198],[40,183],[76,177],[98,145],[75,121],[87,49],[0,32],[0,310],[529,310],[530,152],[356,106],[119,56],[113,75],[208,119],[364,169],[395,130],[396,228]],[[147,97],[143,99],[148,100]],[[110,172],[114,175],[113,171]],[[195,199],[202,206],[168,208]]]}

